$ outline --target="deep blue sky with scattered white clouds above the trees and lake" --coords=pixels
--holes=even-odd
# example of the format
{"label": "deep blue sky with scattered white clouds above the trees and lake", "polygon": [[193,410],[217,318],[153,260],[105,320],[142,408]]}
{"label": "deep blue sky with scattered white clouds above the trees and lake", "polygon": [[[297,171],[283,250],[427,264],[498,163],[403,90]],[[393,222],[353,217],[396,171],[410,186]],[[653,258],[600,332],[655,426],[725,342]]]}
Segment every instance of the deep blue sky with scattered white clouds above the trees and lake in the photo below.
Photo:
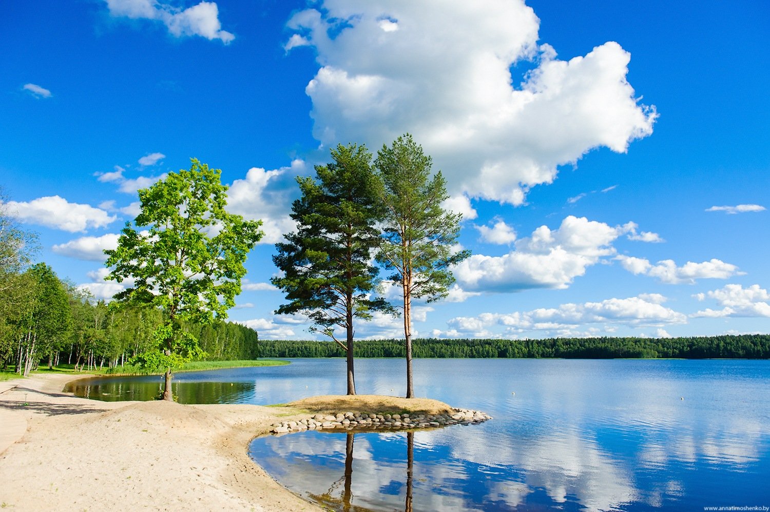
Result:
{"label": "deep blue sky with scattered white clouds above the trees and lake", "polygon": [[309,338],[268,284],[294,180],[411,132],[474,254],[418,336],[766,333],[768,27],[741,1],[6,2],[0,186],[39,259],[107,297],[136,189],[221,168],[266,231],[230,318]]}

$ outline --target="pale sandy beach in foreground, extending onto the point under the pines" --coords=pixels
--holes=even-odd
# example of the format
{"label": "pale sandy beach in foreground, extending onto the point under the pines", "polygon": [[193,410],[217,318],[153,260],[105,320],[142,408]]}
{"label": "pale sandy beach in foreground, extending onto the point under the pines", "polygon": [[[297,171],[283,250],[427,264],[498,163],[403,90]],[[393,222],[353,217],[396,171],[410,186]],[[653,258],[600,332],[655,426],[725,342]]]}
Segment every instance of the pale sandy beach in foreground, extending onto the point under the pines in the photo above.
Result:
{"label": "pale sandy beach in foreground, extending onto the point under the pines", "polygon": [[254,463],[249,441],[309,412],[449,410],[436,400],[380,396],[285,407],[99,402],[62,393],[69,380],[0,383],[4,510],[323,510]]}

